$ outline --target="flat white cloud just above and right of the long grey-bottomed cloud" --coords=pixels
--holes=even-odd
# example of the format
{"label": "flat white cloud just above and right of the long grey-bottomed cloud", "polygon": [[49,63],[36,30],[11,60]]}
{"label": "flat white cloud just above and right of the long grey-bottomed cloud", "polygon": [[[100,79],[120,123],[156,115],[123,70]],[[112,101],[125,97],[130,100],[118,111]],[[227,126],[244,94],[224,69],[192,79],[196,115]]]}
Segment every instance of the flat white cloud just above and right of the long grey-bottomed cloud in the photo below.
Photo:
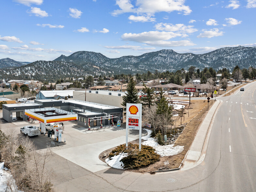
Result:
{"label": "flat white cloud just above and right of the long grey-bottomed cloud", "polygon": [[178,33],[194,33],[198,31],[197,29],[193,28],[193,25],[184,25],[184,24],[168,24],[168,23],[158,23],[155,25],[156,30],[161,31],[172,31]]}

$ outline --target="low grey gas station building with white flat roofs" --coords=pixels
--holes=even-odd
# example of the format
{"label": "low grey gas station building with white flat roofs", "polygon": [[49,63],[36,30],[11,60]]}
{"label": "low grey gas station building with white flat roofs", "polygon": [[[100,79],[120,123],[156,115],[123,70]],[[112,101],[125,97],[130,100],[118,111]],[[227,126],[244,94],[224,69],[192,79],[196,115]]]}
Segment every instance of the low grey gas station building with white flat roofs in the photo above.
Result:
{"label": "low grey gas station building with white flat roofs", "polygon": [[[53,110],[55,112],[53,112]],[[13,113],[16,113],[16,120],[30,120],[29,118],[37,119],[41,118],[40,112],[51,111],[46,114],[48,117],[54,117],[59,119],[58,121],[64,121],[63,115],[70,114],[76,115],[78,125],[88,127],[88,121],[90,120],[90,126],[100,126],[100,124],[108,125],[116,123],[118,120],[123,120],[123,108],[105,104],[97,104],[92,102],[78,101],[78,100],[35,100],[35,103],[17,103],[17,104],[3,104],[3,119],[12,122]],[[58,111],[58,112],[57,112]],[[66,112],[65,112],[66,111]],[[39,116],[35,116],[36,113]],[[33,117],[33,116],[34,117]],[[49,116],[50,115],[50,116]],[[40,117],[41,116],[41,117]],[[45,116],[45,115],[44,115]],[[37,117],[37,118],[35,118]],[[45,117],[46,118],[46,117]],[[46,121],[48,119],[45,119]],[[67,117],[69,118],[69,117]],[[43,123],[45,120],[43,120]],[[67,119],[69,120],[69,119]],[[74,119],[70,119],[74,120]],[[42,122],[42,120],[41,120]],[[47,121],[48,122],[48,121]],[[56,122],[56,121],[52,121]]]}

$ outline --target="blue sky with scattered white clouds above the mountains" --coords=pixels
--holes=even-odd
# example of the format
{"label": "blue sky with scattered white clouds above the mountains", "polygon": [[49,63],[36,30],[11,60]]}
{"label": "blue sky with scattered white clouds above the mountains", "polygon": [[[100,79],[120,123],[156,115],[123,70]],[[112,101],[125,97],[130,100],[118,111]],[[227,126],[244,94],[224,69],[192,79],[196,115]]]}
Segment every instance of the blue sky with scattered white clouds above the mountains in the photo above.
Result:
{"label": "blue sky with scattered white clouds above the mountains", "polygon": [[2,0],[0,59],[256,46],[256,0]]}

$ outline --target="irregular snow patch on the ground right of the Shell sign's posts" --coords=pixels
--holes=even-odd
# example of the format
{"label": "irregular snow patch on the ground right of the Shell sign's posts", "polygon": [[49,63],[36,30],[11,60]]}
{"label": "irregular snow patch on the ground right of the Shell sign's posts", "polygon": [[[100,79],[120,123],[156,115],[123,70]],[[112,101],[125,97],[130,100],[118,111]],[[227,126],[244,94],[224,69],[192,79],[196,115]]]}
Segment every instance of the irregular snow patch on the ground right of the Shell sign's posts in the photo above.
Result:
{"label": "irregular snow patch on the ground right of the Shell sign's posts", "polygon": [[184,150],[184,146],[178,145],[176,147],[173,147],[174,144],[164,146],[159,145],[157,142],[155,142],[154,138],[150,137],[152,131],[148,129],[145,130],[148,132],[148,135],[141,137],[142,139],[146,140],[142,142],[142,145],[148,145],[153,147],[155,149],[155,153],[159,154],[161,157],[176,155]]}

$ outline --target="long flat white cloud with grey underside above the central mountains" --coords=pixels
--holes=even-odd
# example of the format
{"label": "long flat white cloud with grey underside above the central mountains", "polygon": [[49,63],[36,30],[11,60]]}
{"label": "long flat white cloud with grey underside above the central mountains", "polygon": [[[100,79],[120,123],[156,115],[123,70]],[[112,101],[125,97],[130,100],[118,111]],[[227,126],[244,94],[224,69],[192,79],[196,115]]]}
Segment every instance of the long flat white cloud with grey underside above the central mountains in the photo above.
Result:
{"label": "long flat white cloud with grey underside above the central mountains", "polygon": [[182,34],[173,32],[159,32],[159,31],[149,31],[142,33],[124,33],[121,38],[123,40],[135,41],[135,42],[150,42],[158,40],[169,40],[174,37],[180,37]]}

